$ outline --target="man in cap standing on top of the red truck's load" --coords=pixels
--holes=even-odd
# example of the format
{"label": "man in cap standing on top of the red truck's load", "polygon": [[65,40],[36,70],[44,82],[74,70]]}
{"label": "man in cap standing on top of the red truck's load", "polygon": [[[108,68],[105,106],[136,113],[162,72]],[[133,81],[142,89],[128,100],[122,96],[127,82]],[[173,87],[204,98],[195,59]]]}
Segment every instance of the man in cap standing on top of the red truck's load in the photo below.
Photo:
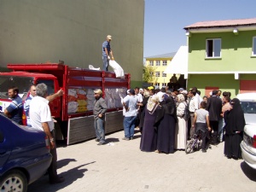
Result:
{"label": "man in cap standing on top of the red truck's load", "polygon": [[106,71],[106,72],[108,72],[108,63],[110,60],[110,56],[111,56],[111,60],[113,60],[113,51],[110,48],[111,39],[112,39],[111,35],[108,35],[107,40],[104,41],[102,44],[103,71]]}

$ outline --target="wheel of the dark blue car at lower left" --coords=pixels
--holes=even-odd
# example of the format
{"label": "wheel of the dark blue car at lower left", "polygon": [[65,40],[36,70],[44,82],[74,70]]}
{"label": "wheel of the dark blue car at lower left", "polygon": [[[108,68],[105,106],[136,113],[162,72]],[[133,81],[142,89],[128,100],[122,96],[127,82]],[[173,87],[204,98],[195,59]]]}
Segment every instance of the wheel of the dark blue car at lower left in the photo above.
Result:
{"label": "wheel of the dark blue car at lower left", "polygon": [[0,181],[0,191],[26,192],[27,180],[23,172],[12,170],[3,175]]}

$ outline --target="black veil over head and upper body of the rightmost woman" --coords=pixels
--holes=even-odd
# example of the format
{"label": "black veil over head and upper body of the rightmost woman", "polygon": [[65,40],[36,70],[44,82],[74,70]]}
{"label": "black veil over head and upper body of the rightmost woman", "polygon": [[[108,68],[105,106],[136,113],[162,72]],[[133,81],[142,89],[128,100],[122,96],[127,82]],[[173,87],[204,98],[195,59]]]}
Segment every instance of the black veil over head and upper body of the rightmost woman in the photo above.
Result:
{"label": "black veil over head and upper body of the rightmost woman", "polygon": [[224,114],[225,131],[227,134],[234,134],[236,131],[243,131],[245,126],[244,114],[239,99],[232,99],[232,109]]}

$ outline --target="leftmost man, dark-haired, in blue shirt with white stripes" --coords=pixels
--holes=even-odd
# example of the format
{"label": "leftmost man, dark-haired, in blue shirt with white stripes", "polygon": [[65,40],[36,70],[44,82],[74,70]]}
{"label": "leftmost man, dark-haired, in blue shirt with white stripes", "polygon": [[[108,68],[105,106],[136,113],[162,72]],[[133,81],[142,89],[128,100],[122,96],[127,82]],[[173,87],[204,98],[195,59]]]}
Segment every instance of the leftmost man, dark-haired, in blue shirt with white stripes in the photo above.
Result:
{"label": "leftmost man, dark-haired, in blue shirt with white stripes", "polygon": [[8,89],[8,95],[12,102],[9,104],[8,108],[4,109],[4,114],[8,116],[9,119],[14,120],[17,124],[22,125],[23,105],[22,99],[18,94],[19,89],[17,87],[10,87]]}

